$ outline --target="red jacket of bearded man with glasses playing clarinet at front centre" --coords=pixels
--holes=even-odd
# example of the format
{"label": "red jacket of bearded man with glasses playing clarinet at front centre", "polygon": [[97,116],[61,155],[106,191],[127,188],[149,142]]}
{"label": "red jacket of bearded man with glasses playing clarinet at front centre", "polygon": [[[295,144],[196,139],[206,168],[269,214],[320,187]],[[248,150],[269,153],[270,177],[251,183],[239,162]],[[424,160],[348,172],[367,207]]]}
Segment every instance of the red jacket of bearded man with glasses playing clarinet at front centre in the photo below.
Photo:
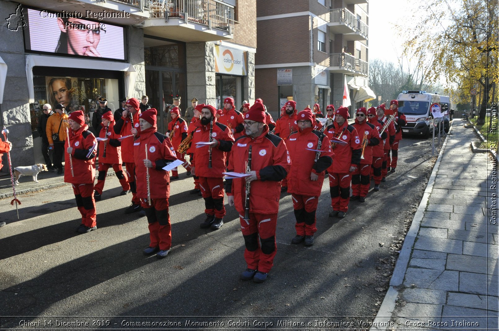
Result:
{"label": "red jacket of bearded man with glasses playing clarinet at front centre", "polygon": [[[246,172],[248,150],[251,145],[251,170],[256,171],[258,180],[250,185],[250,212],[258,214],[277,214],[280,198],[280,180],[286,177],[291,159],[286,144],[279,137],[268,132],[251,139],[247,135],[239,137],[232,147],[229,157],[229,171]],[[196,170],[197,172],[197,170]],[[227,195],[234,195],[236,210],[244,215],[246,202],[246,180],[227,179]]]}

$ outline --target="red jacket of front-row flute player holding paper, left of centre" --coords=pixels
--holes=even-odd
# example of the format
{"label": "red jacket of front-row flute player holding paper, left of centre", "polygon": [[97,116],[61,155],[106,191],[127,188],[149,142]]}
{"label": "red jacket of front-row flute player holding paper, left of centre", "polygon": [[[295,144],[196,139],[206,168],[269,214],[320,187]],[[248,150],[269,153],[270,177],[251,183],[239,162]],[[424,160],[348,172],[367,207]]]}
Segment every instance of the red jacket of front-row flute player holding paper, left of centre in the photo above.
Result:
{"label": "red jacket of front-row flute player holding paper, left of centre", "polygon": [[147,198],[147,178],[144,159],[151,160],[153,167],[149,168],[149,187],[152,199],[170,197],[170,172],[163,167],[177,159],[175,150],[167,136],[151,127],[140,133],[134,143],[135,155],[135,182],[137,183],[137,197]]}

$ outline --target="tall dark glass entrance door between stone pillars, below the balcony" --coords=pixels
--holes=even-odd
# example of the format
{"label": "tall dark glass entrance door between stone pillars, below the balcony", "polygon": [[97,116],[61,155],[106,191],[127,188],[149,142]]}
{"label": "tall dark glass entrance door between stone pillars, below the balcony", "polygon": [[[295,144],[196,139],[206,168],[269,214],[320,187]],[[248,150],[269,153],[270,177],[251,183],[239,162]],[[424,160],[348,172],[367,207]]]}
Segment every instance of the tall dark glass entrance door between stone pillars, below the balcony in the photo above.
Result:
{"label": "tall dark glass entrance door between stone pillars, below the balcony", "polygon": [[165,134],[168,130],[168,122],[171,120],[168,108],[173,98],[181,97],[180,105],[182,114],[186,103],[185,97],[186,80],[185,73],[166,68],[146,67],[146,94],[149,97],[151,107],[158,110],[157,123],[158,132]]}

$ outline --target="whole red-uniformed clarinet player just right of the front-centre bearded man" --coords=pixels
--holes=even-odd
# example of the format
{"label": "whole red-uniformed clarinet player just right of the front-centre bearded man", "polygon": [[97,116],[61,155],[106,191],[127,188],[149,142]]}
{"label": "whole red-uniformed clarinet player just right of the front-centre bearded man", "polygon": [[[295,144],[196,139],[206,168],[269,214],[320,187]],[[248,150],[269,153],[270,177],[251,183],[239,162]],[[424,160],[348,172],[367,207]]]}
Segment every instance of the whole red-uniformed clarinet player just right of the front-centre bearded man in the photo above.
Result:
{"label": "whole red-uniformed clarinet player just right of the front-centre bearded man", "polygon": [[[314,130],[312,112],[305,110],[297,116],[298,131],[293,132],[286,143],[291,158],[291,176],[288,178],[288,192],[293,200],[294,216],[296,218],[296,237],[292,244],[305,241],[305,246],[313,245],[315,227],[315,211],[324,181],[324,172],[333,162],[331,143],[326,135]],[[322,138],[322,139],[321,139]],[[320,148],[318,146],[321,140]],[[316,159],[317,152],[307,149],[320,149],[322,152]]]}

